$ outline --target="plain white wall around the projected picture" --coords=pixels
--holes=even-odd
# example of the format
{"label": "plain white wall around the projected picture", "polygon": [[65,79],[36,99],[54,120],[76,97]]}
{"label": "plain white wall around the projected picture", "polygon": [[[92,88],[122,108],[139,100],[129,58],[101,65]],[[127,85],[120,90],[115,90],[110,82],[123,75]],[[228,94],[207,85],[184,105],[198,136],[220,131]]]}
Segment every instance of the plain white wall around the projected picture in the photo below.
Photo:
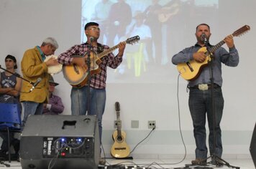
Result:
{"label": "plain white wall around the projected picture", "polygon": [[[229,4],[228,1],[226,1]],[[219,2],[220,4],[223,2]],[[248,6],[245,6],[248,3]],[[212,42],[221,39],[214,38],[215,34],[223,37],[232,33],[239,26],[248,24],[252,30],[244,37],[236,38],[235,44],[239,50],[239,67],[223,67],[225,98],[224,116],[221,123],[223,130],[224,154],[246,154],[249,156],[252,130],[255,126],[255,1],[233,1],[229,9],[219,15],[219,27],[211,25]],[[241,5],[242,4],[242,5]],[[239,10],[232,10],[239,9]],[[222,12],[222,11],[221,11]],[[192,41],[186,45],[193,45],[195,26],[207,19],[193,23],[191,27]],[[218,31],[216,31],[218,30]],[[65,52],[73,44],[81,43],[81,1],[79,0],[1,0],[0,1],[0,64],[4,67],[4,57],[13,54],[20,62],[26,49],[40,45],[45,37],[55,37],[59,43],[56,55]],[[186,47],[184,45],[184,47]],[[181,49],[183,49],[182,47]],[[180,50],[181,50],[180,49]],[[19,73],[20,72],[20,65]],[[168,64],[168,71],[175,72],[172,64]],[[103,143],[106,153],[113,143],[111,134],[114,131],[116,112],[114,102],[121,104],[122,129],[127,132],[127,143],[133,148],[150,130],[147,129],[148,120],[156,120],[157,129],[142,143],[134,154],[183,154],[183,145],[179,135],[179,119],[177,105],[177,77],[167,83],[108,83],[106,111],[104,114]],[[63,79],[63,74],[56,74],[55,81],[60,83],[56,93],[63,98],[65,112],[70,115],[70,85]],[[157,78],[153,77],[152,78]],[[193,127],[188,110],[188,93],[186,82],[180,79],[180,121],[184,141],[188,154],[193,154],[195,143]],[[140,127],[131,128],[131,120],[139,120]]]}

